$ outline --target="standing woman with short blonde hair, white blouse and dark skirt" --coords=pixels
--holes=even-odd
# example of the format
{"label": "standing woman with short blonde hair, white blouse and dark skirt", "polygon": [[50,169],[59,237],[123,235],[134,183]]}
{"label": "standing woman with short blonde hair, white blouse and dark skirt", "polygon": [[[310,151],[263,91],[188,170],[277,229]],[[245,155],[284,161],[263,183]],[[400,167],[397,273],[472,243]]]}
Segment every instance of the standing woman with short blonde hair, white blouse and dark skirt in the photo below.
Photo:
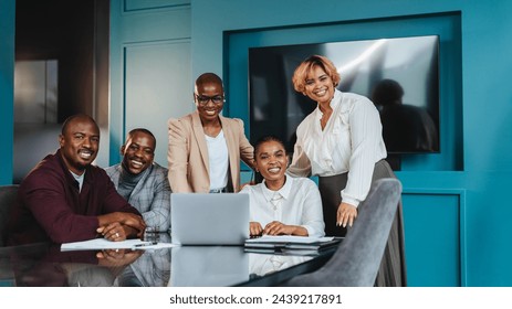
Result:
{"label": "standing woman with short blonde hair, white blouse and dark skirt", "polygon": [[[316,102],[317,107],[296,129],[288,172],[318,175],[328,236],[346,234],[373,181],[396,178],[384,160],[387,152],[378,110],[368,98],[336,89],[339,81],[334,64],[321,55],[303,61],[293,74],[295,90]],[[407,285],[401,202],[375,285]]]}

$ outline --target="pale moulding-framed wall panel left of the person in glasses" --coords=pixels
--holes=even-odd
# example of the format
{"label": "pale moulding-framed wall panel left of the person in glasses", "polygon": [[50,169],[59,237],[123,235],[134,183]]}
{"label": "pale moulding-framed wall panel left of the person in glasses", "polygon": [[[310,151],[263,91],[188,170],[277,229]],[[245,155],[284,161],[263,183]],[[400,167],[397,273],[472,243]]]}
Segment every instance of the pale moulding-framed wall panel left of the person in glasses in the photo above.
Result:
{"label": "pale moulding-framed wall panel left of the person in glasses", "polygon": [[182,89],[184,81],[188,86],[191,78],[189,55],[188,41],[126,46],[126,130],[149,129],[157,140],[155,161],[164,167],[167,166],[167,119],[188,114],[194,107],[190,92]]}

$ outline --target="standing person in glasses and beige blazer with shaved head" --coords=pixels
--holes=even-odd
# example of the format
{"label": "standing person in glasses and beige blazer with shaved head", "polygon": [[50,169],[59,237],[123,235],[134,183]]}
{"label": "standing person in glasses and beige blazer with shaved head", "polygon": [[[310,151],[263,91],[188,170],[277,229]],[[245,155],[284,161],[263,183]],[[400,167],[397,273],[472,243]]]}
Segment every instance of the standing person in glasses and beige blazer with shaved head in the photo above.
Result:
{"label": "standing person in glasses and beige blazer with shaved head", "polygon": [[253,148],[240,119],[220,115],[222,79],[205,73],[196,79],[197,110],[168,120],[169,183],[173,192],[238,192],[240,159],[253,166]]}

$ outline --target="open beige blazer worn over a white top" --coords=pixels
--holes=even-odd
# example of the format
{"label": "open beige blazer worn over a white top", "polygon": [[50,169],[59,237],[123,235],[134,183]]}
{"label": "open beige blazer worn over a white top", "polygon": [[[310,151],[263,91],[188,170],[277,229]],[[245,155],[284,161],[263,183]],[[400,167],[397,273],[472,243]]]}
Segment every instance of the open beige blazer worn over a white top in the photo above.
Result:
{"label": "open beige blazer worn over a white top", "polygon": [[[230,189],[238,192],[240,191],[240,159],[252,168],[253,148],[243,132],[242,120],[219,117],[228,145],[229,182],[232,185]],[[195,111],[179,119],[169,119],[167,124],[170,189],[174,193],[209,192],[208,146],[199,114]]]}

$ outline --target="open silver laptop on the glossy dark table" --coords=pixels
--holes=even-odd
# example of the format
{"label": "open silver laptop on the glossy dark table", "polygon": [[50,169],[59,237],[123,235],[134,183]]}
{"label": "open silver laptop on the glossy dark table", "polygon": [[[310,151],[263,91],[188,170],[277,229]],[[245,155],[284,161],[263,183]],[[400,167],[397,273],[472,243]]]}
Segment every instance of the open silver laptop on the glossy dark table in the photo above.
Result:
{"label": "open silver laptop on the glossy dark table", "polygon": [[179,245],[243,245],[249,238],[249,194],[171,193],[170,234]]}

